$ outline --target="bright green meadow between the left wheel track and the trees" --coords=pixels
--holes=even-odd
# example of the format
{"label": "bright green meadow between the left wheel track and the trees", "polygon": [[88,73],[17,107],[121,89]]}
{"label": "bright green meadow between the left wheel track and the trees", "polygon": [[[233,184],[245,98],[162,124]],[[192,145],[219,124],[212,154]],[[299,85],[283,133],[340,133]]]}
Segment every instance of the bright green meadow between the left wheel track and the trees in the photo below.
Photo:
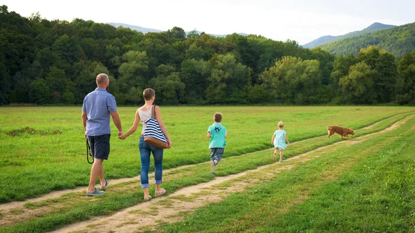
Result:
{"label": "bright green meadow between the left wheel track and the trees", "polygon": [[[291,142],[323,136],[326,126],[339,124],[359,129],[409,107],[382,106],[215,106],[162,107],[163,120],[172,138],[165,150],[163,168],[190,165],[208,160],[206,131],[216,111],[223,113],[228,129],[225,157],[270,147],[270,138],[279,120]],[[124,131],[133,122],[136,108],[118,109]],[[0,203],[22,201],[59,189],[86,186],[90,165],[80,118],[80,107],[0,108]],[[104,162],[107,178],[137,176],[140,171],[138,132],[116,138],[112,125],[111,154]],[[30,130],[21,129],[29,127]],[[33,129],[33,130],[31,130]],[[16,133],[17,132],[17,133]],[[153,169],[153,167],[151,167]]]}

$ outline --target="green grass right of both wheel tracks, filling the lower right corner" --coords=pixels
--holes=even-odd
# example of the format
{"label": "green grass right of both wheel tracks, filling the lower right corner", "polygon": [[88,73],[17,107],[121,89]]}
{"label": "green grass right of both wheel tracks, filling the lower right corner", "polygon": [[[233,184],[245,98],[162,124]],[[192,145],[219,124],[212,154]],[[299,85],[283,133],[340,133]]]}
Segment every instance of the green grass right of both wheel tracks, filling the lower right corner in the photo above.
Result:
{"label": "green grass right of both wheel tracks, filling the lower right corner", "polygon": [[158,232],[415,232],[414,125],[333,145]]}

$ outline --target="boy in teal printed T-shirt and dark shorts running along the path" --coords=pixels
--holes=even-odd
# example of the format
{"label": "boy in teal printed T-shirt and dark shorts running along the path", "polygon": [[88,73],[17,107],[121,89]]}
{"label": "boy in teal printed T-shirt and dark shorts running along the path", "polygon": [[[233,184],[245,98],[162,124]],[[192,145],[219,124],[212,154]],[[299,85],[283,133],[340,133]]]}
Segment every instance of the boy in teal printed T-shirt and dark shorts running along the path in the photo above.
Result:
{"label": "boy in teal printed T-shirt and dark shorts running along the path", "polygon": [[210,174],[215,175],[214,169],[222,158],[225,149],[225,138],[228,136],[226,128],[221,124],[222,113],[214,113],[214,123],[208,129],[210,149]]}

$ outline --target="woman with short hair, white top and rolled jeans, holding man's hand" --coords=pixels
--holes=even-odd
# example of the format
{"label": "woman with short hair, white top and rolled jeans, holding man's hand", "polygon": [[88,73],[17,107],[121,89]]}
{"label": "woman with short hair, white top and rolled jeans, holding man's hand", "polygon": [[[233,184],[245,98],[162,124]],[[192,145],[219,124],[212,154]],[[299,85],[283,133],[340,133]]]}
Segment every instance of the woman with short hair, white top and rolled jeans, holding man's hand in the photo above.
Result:
{"label": "woman with short hair, white top and rolled jeans, holding man's hand", "polygon": [[155,169],[155,180],[156,180],[156,192],[154,193],[156,196],[165,194],[166,190],[161,188],[161,181],[163,176],[163,149],[158,147],[154,147],[153,145],[149,145],[147,142],[144,142],[144,130],[147,124],[145,124],[145,120],[151,118],[151,112],[153,107],[155,107],[156,113],[156,120],[160,125],[161,131],[165,134],[167,138],[167,145],[168,148],[172,147],[172,141],[170,140],[169,134],[167,133],[167,129],[163,120],[161,119],[160,108],[158,106],[154,106],[153,102],[156,98],[156,92],[151,89],[147,88],[142,92],[142,95],[145,100],[145,104],[137,109],[136,111],[136,118],[133,122],[133,126],[129,129],[129,131],[125,134],[122,134],[119,138],[124,140],[132,133],[137,130],[138,124],[140,124],[140,120],[142,122],[142,131],[141,131],[141,138],[138,144],[140,149],[140,158],[141,158],[141,187],[144,191],[144,199],[149,200],[151,196],[149,195],[149,168],[150,168],[150,153],[153,153],[154,157],[154,169]]}

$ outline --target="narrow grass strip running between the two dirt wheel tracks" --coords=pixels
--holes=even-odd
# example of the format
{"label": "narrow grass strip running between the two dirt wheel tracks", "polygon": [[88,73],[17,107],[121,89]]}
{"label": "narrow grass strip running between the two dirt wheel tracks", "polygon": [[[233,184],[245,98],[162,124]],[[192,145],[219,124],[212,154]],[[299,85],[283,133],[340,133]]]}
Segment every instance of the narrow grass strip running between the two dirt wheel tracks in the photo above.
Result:
{"label": "narrow grass strip running between the two dirt wheel tracks", "polygon": [[[376,132],[389,127],[391,124],[405,118],[405,115],[395,115],[376,124],[371,129],[360,129],[356,131],[356,136]],[[302,140],[291,145],[284,154],[284,158],[304,153],[311,149],[329,145],[339,141],[340,138],[327,139],[326,136]],[[217,176],[226,176],[228,174],[237,174],[247,169],[255,169],[260,165],[266,165],[272,160],[272,151],[258,151],[255,153],[247,153],[241,156],[225,158],[217,167]],[[353,155],[353,151],[351,151]],[[167,194],[172,193],[183,187],[196,185],[198,183],[208,182],[212,180],[210,176],[209,166],[206,164],[195,165],[185,169],[166,172],[163,176],[163,187],[167,189]],[[154,187],[150,192],[154,192]],[[137,205],[142,202],[142,190],[138,183],[122,183],[114,185],[113,188],[107,190],[107,194],[99,198],[88,198],[83,193],[66,194],[62,198],[46,201],[48,205],[41,203],[28,203],[26,208],[36,209],[37,207],[48,207],[49,211],[42,212],[32,218],[31,221],[23,221],[11,227],[0,228],[0,232],[48,232],[55,230],[69,223],[84,221],[91,216],[99,216],[111,214],[123,209]],[[55,203],[56,207],[55,207]],[[247,204],[248,205],[248,204]],[[47,210],[47,209],[46,209]]]}

